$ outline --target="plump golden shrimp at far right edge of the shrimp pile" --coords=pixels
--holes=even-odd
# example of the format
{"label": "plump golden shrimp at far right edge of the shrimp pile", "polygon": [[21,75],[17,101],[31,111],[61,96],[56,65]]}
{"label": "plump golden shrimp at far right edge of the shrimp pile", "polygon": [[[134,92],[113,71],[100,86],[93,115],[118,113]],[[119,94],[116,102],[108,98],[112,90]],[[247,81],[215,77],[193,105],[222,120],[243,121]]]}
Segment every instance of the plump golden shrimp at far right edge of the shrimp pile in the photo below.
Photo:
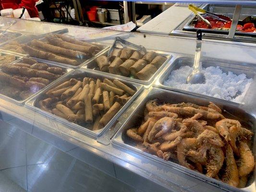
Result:
{"label": "plump golden shrimp at far right edge of the shrimp pile", "polygon": [[237,165],[239,176],[242,177],[248,175],[254,169],[255,162],[252,151],[245,142],[240,141],[238,149],[240,152],[240,159],[238,160]]}

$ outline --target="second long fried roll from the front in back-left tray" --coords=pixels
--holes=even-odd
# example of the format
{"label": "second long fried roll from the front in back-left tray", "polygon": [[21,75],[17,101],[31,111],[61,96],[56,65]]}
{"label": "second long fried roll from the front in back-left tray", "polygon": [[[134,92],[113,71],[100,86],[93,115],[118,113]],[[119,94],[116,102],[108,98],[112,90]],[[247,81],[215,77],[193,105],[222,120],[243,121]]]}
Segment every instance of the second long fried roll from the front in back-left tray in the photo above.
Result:
{"label": "second long fried roll from the front in back-left tray", "polygon": [[68,56],[68,57],[74,58],[74,59],[83,59],[83,58],[87,57],[87,55],[81,51],[62,48],[60,46],[58,47],[58,46],[54,46],[54,45],[49,45],[49,44],[47,44],[43,41],[37,40],[37,39],[32,40],[31,45],[36,48],[41,48],[45,51],[49,51],[51,53],[65,55],[65,56]]}

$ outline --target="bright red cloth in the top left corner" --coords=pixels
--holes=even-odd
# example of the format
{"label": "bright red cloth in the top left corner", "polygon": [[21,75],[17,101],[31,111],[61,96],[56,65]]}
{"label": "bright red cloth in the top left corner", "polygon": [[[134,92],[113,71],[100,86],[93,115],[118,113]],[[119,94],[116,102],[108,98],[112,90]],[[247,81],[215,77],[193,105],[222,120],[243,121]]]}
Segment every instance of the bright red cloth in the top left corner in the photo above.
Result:
{"label": "bright red cloth in the top left corner", "polygon": [[25,7],[30,17],[38,17],[36,2],[38,0],[0,0],[3,9],[19,9]]}

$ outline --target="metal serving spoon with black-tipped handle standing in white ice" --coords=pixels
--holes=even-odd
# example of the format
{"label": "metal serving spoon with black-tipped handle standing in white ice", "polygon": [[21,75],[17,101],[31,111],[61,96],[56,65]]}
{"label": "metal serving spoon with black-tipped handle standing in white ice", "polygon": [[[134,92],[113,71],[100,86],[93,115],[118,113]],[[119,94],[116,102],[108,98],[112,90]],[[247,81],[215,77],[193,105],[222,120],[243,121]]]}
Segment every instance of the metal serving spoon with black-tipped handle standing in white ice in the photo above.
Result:
{"label": "metal serving spoon with black-tipped handle standing in white ice", "polygon": [[193,71],[188,75],[186,83],[187,84],[205,84],[206,77],[203,72],[201,72],[202,64],[200,61],[201,47],[202,47],[202,31],[199,29],[196,31],[196,48],[195,48],[195,60],[193,65]]}

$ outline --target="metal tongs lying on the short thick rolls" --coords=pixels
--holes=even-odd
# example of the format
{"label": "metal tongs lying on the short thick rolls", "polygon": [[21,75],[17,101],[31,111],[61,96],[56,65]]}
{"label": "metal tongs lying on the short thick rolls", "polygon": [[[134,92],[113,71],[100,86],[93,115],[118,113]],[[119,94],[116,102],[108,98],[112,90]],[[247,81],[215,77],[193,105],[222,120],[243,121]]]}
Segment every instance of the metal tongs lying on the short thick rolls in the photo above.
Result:
{"label": "metal tongs lying on the short thick rolls", "polygon": [[113,50],[117,47],[117,45],[120,44],[122,45],[122,47],[132,47],[137,49],[140,53],[142,53],[143,55],[146,54],[146,48],[141,46],[141,45],[136,45],[134,43],[131,43],[129,41],[126,41],[122,38],[120,38],[119,36],[115,37],[115,40],[113,42],[113,44],[110,47],[110,50],[108,51],[108,59],[110,59],[111,53],[113,52]]}

